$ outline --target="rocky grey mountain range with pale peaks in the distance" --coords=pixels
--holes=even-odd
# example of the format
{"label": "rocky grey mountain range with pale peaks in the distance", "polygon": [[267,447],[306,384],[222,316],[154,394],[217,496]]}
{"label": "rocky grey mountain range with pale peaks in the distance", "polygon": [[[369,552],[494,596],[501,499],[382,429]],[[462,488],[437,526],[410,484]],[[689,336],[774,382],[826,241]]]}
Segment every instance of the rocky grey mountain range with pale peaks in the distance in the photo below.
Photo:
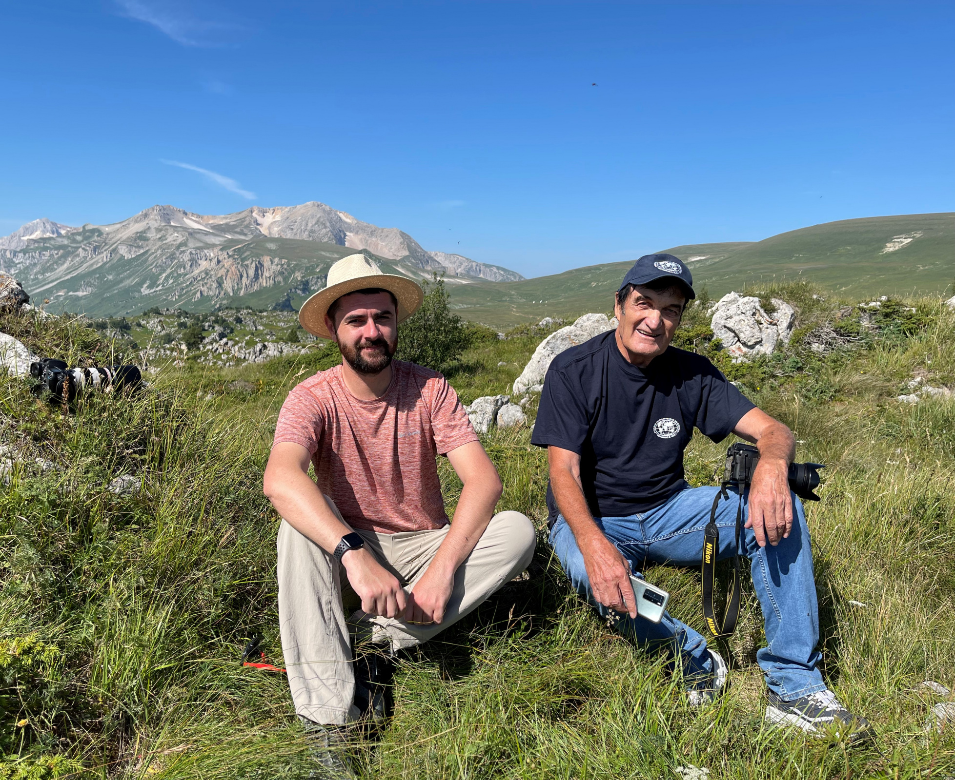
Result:
{"label": "rocky grey mountain range with pale peaks in the distance", "polygon": [[413,278],[520,278],[467,257],[426,252],[403,231],[317,202],[223,216],[153,206],[122,222],[81,228],[37,219],[0,238],[0,272],[61,311],[118,315],[196,301],[193,308],[211,309],[250,296],[249,305],[288,308],[321,289],[329,265],[356,250]]}

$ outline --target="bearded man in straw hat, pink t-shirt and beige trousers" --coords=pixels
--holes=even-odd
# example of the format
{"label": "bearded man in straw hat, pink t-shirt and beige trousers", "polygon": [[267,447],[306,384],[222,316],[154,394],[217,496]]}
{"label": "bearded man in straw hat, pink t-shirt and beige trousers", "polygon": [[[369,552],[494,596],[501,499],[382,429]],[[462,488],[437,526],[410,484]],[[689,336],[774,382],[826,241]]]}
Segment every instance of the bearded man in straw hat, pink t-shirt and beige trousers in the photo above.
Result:
{"label": "bearded man in straw hat, pink t-shirt and beige trousers", "polygon": [[[279,618],[292,699],[321,760],[343,771],[334,743],[346,725],[384,715],[382,656],[456,623],[534,552],[524,515],[495,514],[498,472],[454,389],[393,360],[398,323],[421,300],[414,281],[364,255],[331,266],[299,320],[343,360],[288,394],[265,468],[265,495],[283,517]],[[463,483],[451,524],[438,455]],[[356,669],[354,640],[382,649]]]}

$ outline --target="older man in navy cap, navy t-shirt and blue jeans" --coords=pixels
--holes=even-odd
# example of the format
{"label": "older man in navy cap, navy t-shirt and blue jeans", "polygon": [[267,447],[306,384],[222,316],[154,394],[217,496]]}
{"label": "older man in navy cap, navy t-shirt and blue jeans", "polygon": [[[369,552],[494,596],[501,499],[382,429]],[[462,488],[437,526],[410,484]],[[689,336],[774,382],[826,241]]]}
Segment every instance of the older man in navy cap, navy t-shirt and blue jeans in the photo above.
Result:
{"label": "older man in navy cap, navy t-shirt and blue jeans", "polygon": [[[719,488],[691,488],[683,453],[698,428],[712,441],[731,433],[755,442],[759,462],[744,496],[741,553],[752,562],[767,647],[756,653],[767,684],[766,717],[847,741],[868,733],[819,673],[818,608],[809,529],[790,491],[796,442],[783,423],[747,400],[710,362],[670,346],[695,298],[690,269],[647,255],[626,274],[615,301],[619,324],[553,360],[532,442],[547,447],[550,543],[567,576],[601,614],[640,644],[668,647],[690,688],[711,701],[727,665],[690,626],[637,616],[630,574],[647,562],[699,565]],[[717,504],[719,559],[737,554],[734,501]]]}

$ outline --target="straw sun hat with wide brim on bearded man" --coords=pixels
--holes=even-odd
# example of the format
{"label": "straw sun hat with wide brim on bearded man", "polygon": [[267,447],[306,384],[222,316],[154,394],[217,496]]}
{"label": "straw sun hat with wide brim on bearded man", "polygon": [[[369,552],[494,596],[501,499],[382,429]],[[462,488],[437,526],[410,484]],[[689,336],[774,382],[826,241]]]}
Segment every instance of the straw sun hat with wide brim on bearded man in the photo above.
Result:
{"label": "straw sun hat with wide brim on bearded man", "polygon": [[342,296],[369,287],[388,290],[398,299],[398,322],[411,317],[424,298],[421,287],[412,279],[395,274],[382,274],[381,269],[369,257],[349,255],[342,257],[329,268],[325,289],[315,293],[302,304],[299,322],[308,333],[321,339],[330,339],[329,329],[325,327],[325,315],[329,306]]}

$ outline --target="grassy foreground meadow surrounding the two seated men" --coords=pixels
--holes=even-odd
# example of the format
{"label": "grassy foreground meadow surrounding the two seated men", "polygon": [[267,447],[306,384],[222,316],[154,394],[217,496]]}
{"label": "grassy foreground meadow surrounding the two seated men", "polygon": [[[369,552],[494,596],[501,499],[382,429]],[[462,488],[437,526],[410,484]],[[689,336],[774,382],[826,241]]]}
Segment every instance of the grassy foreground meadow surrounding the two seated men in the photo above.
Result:
{"label": "grassy foreground meadow surrounding the two seated men", "polygon": [[[499,506],[541,528],[531,579],[399,659],[393,719],[355,736],[360,776],[619,780],[688,765],[711,780],[955,773],[955,729],[923,729],[942,699],[919,685],[955,688],[955,400],[895,400],[913,377],[955,385],[955,312],[925,298],[863,318],[853,301],[813,298],[808,285],[762,289],[796,304],[793,343],[724,364],[796,431],[800,460],[827,464],[822,502],[807,506],[823,671],[872,721],[875,742],[845,750],[763,725],[752,590],[728,647],[731,687],[688,708],[662,659],[608,632],[571,592],[543,539],[544,454],[526,430],[493,431],[483,442],[505,486]],[[705,330],[691,310],[679,338],[702,345]],[[0,331],[53,357],[115,357],[76,322],[3,315]],[[822,331],[848,346],[817,354],[806,338]],[[507,393],[539,339],[485,341],[449,379],[465,401]],[[0,377],[0,439],[17,460],[0,482],[0,778],[309,776],[284,676],[242,667],[240,652],[260,633],[268,660],[282,663],[279,518],[262,471],[288,389],[337,359],[317,346],[231,369],[190,358],[138,396],[90,397],[66,414]],[[536,400],[528,409],[533,418]],[[692,441],[691,482],[713,482],[728,443]],[[107,489],[121,474],[142,490]],[[460,484],[444,461],[441,476],[450,510]],[[697,571],[654,567],[647,578],[701,626]]]}

